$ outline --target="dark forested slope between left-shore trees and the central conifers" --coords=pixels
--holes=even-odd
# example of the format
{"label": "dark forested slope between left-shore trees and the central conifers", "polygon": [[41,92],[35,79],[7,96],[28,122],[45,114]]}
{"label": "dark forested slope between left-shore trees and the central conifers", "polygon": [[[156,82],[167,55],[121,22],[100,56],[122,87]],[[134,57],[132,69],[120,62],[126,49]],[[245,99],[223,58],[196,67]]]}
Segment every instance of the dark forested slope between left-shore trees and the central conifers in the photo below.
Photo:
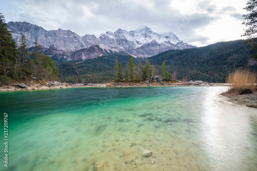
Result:
{"label": "dark forested slope between left-shore trees and the central conifers", "polygon": [[[59,78],[62,82],[69,83],[111,82],[116,79],[114,71],[116,56],[122,67],[125,68],[128,55],[108,53],[108,55],[96,59],[59,63]],[[142,60],[142,58],[134,58],[134,63]],[[123,72],[125,73],[125,70]]]}

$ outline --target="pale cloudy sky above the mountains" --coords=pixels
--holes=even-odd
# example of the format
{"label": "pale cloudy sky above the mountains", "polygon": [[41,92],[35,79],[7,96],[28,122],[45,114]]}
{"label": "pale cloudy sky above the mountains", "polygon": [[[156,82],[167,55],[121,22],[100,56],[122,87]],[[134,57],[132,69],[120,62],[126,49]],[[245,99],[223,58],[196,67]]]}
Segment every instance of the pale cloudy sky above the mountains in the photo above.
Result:
{"label": "pale cloudy sky above the mountains", "polygon": [[1,0],[6,22],[62,28],[83,36],[144,26],[196,46],[242,39],[247,0]]}

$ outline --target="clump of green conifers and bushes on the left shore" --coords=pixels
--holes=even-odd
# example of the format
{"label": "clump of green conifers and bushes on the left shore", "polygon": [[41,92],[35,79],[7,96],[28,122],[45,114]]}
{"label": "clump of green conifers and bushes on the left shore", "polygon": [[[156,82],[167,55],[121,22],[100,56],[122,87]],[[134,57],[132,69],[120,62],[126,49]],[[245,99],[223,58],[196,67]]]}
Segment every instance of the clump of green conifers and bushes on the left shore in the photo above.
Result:
{"label": "clump of green conifers and bushes on the left shore", "polygon": [[0,13],[0,83],[10,84],[14,80],[29,83],[33,75],[38,79],[55,80],[57,66],[50,56],[40,54],[38,40],[34,42],[36,51],[29,54],[25,34],[21,34],[17,47],[7,28],[4,16]]}

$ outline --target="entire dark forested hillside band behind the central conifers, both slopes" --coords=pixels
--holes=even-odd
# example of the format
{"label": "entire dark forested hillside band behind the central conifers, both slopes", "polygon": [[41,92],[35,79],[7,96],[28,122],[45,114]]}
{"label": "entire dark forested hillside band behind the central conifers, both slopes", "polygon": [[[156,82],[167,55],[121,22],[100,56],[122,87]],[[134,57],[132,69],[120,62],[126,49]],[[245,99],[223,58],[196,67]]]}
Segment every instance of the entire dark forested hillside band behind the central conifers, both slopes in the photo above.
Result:
{"label": "entire dark forested hillside band behind the central conifers, both slopes", "polygon": [[[256,63],[248,66],[251,54],[243,40],[221,42],[206,47],[169,50],[148,58],[151,65],[160,74],[161,64],[166,63],[167,70],[176,80],[202,80],[206,82],[225,82],[229,71],[247,67],[257,70]],[[61,81],[72,83],[102,83],[116,79],[114,65],[115,58],[121,63],[123,75],[128,61],[127,55],[111,53],[97,59],[86,61],[69,61],[58,64]],[[145,65],[145,58],[133,58],[133,63]]]}

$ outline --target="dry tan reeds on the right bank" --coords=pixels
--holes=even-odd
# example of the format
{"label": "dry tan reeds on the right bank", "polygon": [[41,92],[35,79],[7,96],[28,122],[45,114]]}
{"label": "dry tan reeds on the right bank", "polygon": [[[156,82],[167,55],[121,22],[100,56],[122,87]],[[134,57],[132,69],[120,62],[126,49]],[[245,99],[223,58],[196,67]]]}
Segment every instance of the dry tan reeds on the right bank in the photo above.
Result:
{"label": "dry tan reeds on the right bank", "polygon": [[248,88],[252,91],[256,90],[257,74],[249,70],[236,70],[228,74],[226,83],[231,84],[228,92],[238,92],[242,89]]}

